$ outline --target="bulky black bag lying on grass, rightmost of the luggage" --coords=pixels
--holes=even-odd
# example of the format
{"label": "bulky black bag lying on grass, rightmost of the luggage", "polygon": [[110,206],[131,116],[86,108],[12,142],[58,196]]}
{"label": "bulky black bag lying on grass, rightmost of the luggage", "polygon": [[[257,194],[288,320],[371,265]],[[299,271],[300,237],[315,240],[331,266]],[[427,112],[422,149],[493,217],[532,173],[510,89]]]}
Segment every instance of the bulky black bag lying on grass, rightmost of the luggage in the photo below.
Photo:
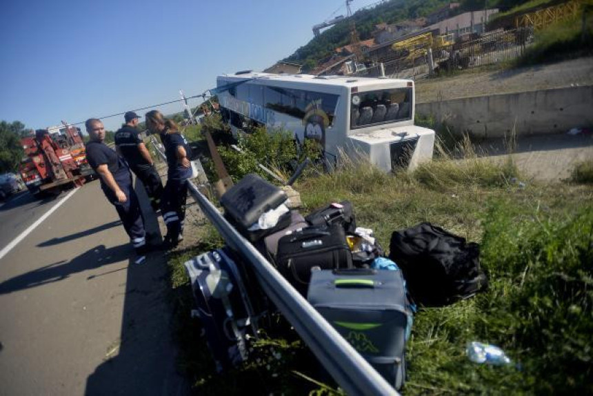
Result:
{"label": "bulky black bag lying on grass, rightmost of the luggage", "polygon": [[401,268],[414,301],[444,306],[488,288],[480,246],[430,223],[394,231],[389,258]]}

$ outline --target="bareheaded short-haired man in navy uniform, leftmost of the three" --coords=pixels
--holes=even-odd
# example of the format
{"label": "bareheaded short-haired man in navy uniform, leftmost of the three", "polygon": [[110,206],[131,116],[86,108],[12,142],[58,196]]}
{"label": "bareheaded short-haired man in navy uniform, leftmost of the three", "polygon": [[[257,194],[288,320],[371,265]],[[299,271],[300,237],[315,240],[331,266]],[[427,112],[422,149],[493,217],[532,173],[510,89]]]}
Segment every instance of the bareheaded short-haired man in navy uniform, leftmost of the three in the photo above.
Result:
{"label": "bareheaded short-haired man in navy uniform, leftmost of the three", "polygon": [[117,214],[128,232],[132,246],[139,259],[148,251],[145,238],[144,219],[138,203],[138,197],[132,186],[132,173],[128,164],[117,153],[105,146],[105,128],[101,120],[88,119],[85,123],[90,141],[86,144],[86,158],[90,166],[99,175],[101,189],[108,201],[115,206]]}

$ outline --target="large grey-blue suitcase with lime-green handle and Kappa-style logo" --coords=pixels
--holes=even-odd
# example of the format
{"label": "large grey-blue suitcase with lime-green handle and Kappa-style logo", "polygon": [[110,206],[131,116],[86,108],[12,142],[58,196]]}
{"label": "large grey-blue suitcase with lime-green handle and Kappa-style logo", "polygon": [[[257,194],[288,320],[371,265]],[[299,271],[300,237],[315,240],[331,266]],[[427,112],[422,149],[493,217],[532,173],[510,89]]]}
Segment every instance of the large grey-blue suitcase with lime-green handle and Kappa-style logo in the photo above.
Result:
{"label": "large grey-blue suitcase with lime-green handle and Kappa-style logo", "polygon": [[401,388],[412,315],[401,271],[314,270],[307,299],[379,374]]}

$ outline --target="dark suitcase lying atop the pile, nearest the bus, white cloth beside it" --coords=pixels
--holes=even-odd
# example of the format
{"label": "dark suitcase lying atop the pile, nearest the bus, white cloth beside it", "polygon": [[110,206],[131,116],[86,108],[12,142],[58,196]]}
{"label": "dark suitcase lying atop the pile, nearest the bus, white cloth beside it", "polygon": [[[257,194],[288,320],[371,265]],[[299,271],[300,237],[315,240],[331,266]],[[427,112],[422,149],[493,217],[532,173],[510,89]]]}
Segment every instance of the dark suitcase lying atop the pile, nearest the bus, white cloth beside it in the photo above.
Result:
{"label": "dark suitcase lying atop the pile, nearest the bus, white cloth beside it", "polygon": [[225,215],[244,229],[250,228],[268,210],[288,199],[283,190],[258,175],[250,174],[235,184],[221,197]]}

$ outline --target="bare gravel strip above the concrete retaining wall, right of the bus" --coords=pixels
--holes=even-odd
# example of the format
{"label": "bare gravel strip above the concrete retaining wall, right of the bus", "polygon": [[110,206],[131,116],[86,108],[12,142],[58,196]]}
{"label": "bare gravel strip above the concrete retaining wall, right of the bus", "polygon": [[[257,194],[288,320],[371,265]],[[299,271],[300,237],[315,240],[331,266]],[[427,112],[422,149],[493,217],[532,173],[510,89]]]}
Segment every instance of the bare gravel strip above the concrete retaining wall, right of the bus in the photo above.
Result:
{"label": "bare gravel strip above the concrete retaining wall, right of the bus", "polygon": [[593,85],[593,57],[501,70],[468,70],[416,81],[416,103],[550,88]]}

